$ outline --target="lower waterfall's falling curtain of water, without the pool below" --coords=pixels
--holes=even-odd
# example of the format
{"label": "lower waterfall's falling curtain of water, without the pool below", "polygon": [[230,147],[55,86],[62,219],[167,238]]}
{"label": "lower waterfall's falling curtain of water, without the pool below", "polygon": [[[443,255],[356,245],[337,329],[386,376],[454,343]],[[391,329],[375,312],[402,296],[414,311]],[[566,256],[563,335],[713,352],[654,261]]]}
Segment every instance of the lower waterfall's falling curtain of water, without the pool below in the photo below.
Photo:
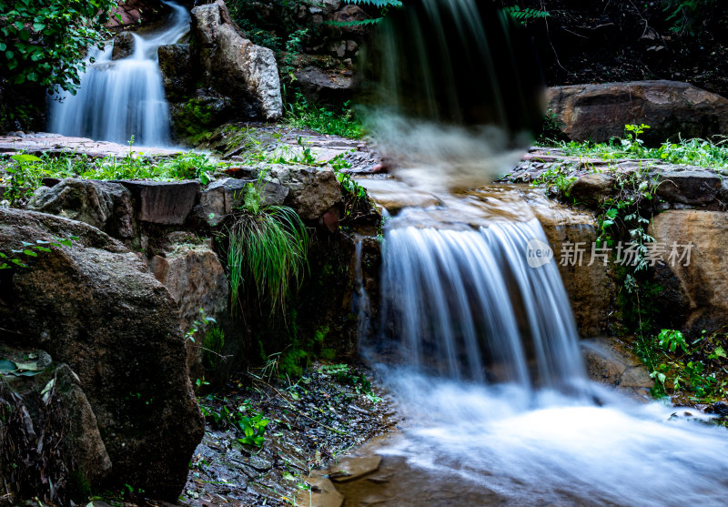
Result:
{"label": "lower waterfall's falling curtain of water, without the pool below", "polygon": [[[417,370],[525,389],[584,379],[569,299],[553,263],[531,268],[536,218],[480,230],[406,226],[386,236],[382,317]],[[529,367],[529,354],[533,367]],[[490,371],[488,370],[490,367]]]}

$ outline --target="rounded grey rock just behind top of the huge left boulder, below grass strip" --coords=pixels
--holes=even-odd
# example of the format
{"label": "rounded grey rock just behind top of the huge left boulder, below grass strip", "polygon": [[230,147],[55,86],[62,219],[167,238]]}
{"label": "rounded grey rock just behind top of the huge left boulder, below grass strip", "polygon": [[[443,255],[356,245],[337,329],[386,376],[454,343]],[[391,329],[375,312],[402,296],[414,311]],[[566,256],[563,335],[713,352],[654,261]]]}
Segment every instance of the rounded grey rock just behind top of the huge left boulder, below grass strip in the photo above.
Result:
{"label": "rounded grey rock just behind top of the huge left boulder, below grass strip", "polygon": [[134,199],[118,183],[67,178],[35,190],[27,208],[85,222],[114,238],[134,237]]}

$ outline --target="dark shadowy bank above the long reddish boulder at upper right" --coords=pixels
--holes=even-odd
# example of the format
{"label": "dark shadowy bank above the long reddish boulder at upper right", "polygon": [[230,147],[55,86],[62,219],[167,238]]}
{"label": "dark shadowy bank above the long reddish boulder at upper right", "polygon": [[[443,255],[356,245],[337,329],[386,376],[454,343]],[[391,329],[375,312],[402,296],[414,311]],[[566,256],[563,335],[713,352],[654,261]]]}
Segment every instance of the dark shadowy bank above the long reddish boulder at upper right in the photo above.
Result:
{"label": "dark shadowy bank above the long reddish boulder at upper right", "polygon": [[526,19],[549,86],[686,81],[728,96],[728,9],[718,0],[497,0]]}

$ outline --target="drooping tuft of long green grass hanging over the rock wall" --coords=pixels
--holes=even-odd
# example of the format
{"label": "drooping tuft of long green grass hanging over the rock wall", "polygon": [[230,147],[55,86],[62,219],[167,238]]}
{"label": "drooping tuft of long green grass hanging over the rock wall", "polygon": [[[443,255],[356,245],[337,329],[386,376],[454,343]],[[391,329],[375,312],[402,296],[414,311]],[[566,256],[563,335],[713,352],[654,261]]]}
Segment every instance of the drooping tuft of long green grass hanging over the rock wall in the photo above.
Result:
{"label": "drooping tuft of long green grass hanging over the rock wall", "polygon": [[248,279],[258,299],[268,299],[272,316],[285,308],[292,285],[303,279],[308,230],[291,208],[260,207],[256,188],[248,188],[245,203],[227,231],[230,302],[233,310],[238,308],[240,290]]}

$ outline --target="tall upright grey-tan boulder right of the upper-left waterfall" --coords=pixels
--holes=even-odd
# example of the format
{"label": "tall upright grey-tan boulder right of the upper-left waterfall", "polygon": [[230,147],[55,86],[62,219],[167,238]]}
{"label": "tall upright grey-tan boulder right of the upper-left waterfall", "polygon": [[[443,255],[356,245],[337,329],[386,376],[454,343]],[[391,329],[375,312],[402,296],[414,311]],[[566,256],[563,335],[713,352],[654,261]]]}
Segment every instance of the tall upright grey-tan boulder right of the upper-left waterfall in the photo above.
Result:
{"label": "tall upright grey-tan boulder right of the upper-left waterfall", "polygon": [[194,58],[203,80],[236,100],[248,117],[283,116],[278,66],[273,51],[246,39],[222,0],[192,9]]}

